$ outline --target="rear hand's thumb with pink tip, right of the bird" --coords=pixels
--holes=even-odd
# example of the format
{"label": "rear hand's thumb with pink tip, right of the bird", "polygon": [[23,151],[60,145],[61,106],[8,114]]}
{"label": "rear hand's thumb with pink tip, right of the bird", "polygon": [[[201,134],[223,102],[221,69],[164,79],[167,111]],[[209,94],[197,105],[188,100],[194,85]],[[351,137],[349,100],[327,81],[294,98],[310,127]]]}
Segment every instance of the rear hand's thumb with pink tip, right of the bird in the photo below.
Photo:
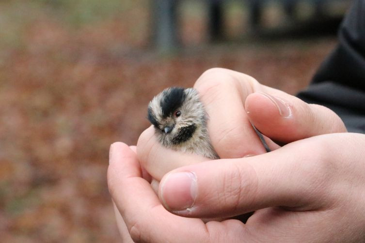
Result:
{"label": "rear hand's thumb with pink tip, right of the bird", "polygon": [[250,94],[245,102],[250,121],[267,137],[288,143],[328,133],[346,132],[341,119],[329,108],[310,105],[282,91]]}

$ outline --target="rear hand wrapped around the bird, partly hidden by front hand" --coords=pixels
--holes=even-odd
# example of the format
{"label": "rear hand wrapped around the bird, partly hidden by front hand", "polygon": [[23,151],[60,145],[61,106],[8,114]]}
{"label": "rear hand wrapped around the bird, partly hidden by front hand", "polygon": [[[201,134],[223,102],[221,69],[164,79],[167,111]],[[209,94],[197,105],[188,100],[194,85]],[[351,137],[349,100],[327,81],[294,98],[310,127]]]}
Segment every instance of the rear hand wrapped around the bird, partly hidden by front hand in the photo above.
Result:
{"label": "rear hand wrapped around the bird, partly hidden by front hand", "polygon": [[[344,123],[332,110],[307,104],[232,70],[210,69],[199,77],[194,88],[205,105],[211,143],[221,158],[266,152],[252,124],[265,136],[271,150],[279,148],[278,144],[307,137],[346,132]],[[162,147],[152,126],[140,136],[137,154],[142,166],[157,181],[175,168],[207,160]]]}

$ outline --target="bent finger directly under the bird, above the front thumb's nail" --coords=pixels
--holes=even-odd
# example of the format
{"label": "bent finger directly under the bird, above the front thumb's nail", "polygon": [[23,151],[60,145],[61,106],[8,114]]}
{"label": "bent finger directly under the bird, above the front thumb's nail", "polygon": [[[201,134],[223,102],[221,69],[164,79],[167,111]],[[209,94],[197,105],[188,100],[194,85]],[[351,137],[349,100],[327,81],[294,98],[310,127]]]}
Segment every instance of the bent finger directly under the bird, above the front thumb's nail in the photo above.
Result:
{"label": "bent finger directly under the bird, above the front thumb's nail", "polygon": [[197,154],[165,148],[159,144],[154,133],[155,130],[151,126],[141,134],[137,142],[137,155],[143,168],[158,181],[175,168],[208,160]]}

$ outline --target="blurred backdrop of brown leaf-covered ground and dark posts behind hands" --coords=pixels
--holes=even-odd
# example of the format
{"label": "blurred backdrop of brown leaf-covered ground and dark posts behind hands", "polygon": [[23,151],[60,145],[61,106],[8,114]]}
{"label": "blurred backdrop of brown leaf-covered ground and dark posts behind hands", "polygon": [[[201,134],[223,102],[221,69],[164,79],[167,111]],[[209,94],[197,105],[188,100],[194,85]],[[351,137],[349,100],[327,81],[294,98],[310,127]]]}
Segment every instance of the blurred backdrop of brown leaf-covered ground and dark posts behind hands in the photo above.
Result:
{"label": "blurred backdrop of brown leaf-covered ground and dark posts behind hands", "polygon": [[148,101],[212,67],[295,94],[349,3],[0,0],[0,241],[120,242],[108,150]]}

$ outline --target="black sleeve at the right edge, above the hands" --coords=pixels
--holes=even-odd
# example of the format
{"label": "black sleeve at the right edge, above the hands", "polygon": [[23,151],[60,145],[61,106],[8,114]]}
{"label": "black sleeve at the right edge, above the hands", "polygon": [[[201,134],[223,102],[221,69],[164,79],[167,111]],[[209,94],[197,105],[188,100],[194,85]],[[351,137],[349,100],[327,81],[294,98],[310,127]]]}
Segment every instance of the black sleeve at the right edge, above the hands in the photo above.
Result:
{"label": "black sleeve at the right edge, above the hands", "polygon": [[354,0],[338,37],[338,46],[297,96],[332,109],[349,132],[365,133],[365,0]]}

